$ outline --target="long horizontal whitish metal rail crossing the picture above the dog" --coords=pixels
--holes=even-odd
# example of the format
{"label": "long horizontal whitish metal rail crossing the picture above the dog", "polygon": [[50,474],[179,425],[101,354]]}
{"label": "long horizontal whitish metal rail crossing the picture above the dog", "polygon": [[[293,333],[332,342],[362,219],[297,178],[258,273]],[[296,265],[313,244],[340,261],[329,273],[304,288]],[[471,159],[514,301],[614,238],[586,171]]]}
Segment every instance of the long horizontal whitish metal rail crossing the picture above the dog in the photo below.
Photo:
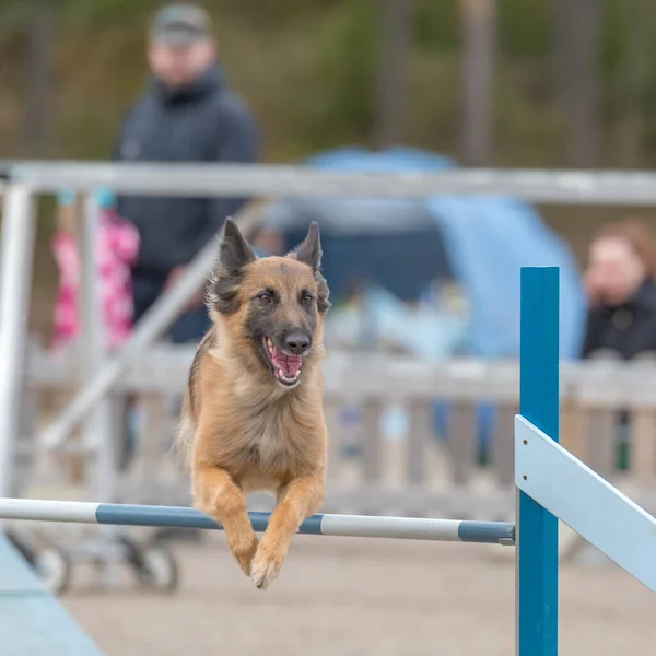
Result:
{"label": "long horizontal whitish metal rail crossing the picture above the dog", "polygon": [[[1,164],[0,164],[1,167]],[[656,174],[642,172],[464,169],[359,173],[306,166],[13,162],[9,179],[36,192],[62,188],[166,196],[378,197],[507,196],[541,203],[656,203]]]}

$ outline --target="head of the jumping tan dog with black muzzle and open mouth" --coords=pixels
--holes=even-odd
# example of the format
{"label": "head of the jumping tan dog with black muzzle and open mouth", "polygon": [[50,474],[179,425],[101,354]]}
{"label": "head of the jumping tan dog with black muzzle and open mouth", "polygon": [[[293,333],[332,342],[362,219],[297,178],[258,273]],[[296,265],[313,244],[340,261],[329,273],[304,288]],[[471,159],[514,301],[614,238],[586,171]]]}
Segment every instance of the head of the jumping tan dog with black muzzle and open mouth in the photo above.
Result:
{"label": "head of the jumping tan dog with black muzzle and open mouth", "polygon": [[330,303],[320,273],[319,227],[285,257],[258,258],[227,219],[219,265],[208,289],[215,323],[249,368],[269,372],[292,389],[324,352],[324,315]]}

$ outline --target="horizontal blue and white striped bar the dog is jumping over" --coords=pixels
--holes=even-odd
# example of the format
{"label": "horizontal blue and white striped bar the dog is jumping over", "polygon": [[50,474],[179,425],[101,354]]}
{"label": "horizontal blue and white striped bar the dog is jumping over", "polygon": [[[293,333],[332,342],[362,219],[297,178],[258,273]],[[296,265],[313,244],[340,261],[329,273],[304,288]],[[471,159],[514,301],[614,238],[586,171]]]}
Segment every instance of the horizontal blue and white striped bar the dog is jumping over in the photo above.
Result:
{"label": "horizontal blue and white striped bar the dog is jumping over", "polygon": [[[256,531],[266,530],[270,513],[248,513],[248,515]],[[222,528],[204,513],[195,508],[32,499],[0,499],[0,519],[168,528]],[[303,522],[298,532],[315,536],[433,540],[437,542],[508,546],[515,543],[515,525],[507,522],[312,515]]]}

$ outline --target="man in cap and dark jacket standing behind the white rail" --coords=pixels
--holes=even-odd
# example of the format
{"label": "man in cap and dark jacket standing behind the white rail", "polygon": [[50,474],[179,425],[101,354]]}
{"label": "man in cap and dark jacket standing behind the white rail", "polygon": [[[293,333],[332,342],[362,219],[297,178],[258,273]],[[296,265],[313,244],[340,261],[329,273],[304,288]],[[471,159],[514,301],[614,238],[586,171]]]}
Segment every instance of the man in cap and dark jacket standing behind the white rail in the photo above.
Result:
{"label": "man in cap and dark jacket standing behind the white rail", "polygon": [[[229,87],[207,12],[168,4],[151,21],[151,80],[121,126],[115,160],[171,163],[253,163],[259,137],[245,104]],[[134,320],[179,276],[245,198],[122,196],[119,212],[140,233],[133,267]],[[197,341],[209,327],[202,293],[191,300],[169,335]]]}

